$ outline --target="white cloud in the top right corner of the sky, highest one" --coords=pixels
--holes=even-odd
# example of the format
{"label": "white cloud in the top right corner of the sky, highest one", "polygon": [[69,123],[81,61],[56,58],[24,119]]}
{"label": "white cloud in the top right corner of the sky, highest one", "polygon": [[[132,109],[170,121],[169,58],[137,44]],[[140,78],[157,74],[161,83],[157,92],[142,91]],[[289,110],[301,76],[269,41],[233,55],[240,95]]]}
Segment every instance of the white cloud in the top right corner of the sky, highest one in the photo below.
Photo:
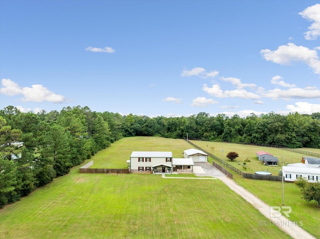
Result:
{"label": "white cloud in the top right corner of the sky, highest one", "polygon": [[299,14],[308,21],[313,21],[308,27],[309,30],[304,32],[304,38],[306,40],[316,40],[316,38],[320,36],[320,4],[317,3],[309,6],[299,12]]}

